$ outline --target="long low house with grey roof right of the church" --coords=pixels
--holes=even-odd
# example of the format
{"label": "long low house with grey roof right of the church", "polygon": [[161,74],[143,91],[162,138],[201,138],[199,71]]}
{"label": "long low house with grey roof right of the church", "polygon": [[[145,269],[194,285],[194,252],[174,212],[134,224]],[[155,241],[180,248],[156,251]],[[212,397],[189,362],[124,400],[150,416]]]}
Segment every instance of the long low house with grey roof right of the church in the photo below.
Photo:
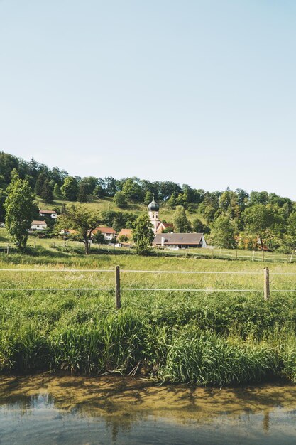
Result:
{"label": "long low house with grey roof right of the church", "polygon": [[179,250],[187,247],[207,247],[203,233],[164,233],[155,236],[152,245]]}

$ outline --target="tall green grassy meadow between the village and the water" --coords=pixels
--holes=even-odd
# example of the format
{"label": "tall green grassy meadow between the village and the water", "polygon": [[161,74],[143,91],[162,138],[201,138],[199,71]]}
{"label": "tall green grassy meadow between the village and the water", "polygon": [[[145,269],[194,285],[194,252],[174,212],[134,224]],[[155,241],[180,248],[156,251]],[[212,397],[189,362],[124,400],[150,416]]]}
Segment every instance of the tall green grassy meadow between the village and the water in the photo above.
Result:
{"label": "tall green grassy meadow between the village and the water", "polygon": [[[180,291],[122,290],[116,310],[117,264],[122,289]],[[269,301],[263,300],[265,265]],[[1,372],[120,373],[197,385],[296,382],[295,264],[85,257],[43,245],[26,255],[1,253],[0,269],[1,289],[60,289],[0,291]],[[128,272],[143,270],[154,272]],[[65,290],[72,288],[80,290]]]}

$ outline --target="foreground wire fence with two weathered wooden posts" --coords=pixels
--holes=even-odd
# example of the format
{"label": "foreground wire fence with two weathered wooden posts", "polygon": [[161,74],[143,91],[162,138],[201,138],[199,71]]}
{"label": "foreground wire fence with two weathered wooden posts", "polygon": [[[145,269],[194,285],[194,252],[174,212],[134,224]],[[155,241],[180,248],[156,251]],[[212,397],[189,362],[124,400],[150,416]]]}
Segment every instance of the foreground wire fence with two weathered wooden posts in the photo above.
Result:
{"label": "foreground wire fence with two weathered wooden posts", "polygon": [[[121,292],[122,291],[161,291],[161,292],[260,292],[263,293],[263,297],[265,301],[270,299],[270,292],[296,292],[296,289],[270,289],[270,272],[268,267],[265,267],[262,272],[248,272],[248,271],[240,271],[240,272],[229,272],[229,271],[172,271],[172,270],[128,270],[128,269],[120,269],[119,266],[116,266],[116,269],[0,269],[1,272],[55,272],[55,274],[59,274],[62,272],[95,272],[108,274],[115,274],[115,284],[114,287],[2,287],[0,291],[113,291],[115,294],[115,305],[117,309],[121,307]],[[263,275],[263,288],[261,289],[207,289],[207,288],[199,288],[199,289],[184,289],[184,288],[160,288],[160,287],[121,287],[121,274],[214,274],[214,275]],[[283,276],[296,276],[296,273],[293,272],[275,272],[273,275],[283,275]]]}

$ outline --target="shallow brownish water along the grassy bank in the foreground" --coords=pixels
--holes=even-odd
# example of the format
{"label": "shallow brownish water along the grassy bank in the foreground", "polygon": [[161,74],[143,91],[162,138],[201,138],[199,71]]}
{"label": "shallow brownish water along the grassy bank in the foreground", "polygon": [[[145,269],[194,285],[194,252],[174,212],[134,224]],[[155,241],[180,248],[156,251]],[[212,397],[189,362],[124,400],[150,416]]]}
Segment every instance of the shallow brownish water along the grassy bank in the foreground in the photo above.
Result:
{"label": "shallow brownish water along the grassy bank in the foreground", "polygon": [[296,386],[0,377],[0,444],[296,444]]}

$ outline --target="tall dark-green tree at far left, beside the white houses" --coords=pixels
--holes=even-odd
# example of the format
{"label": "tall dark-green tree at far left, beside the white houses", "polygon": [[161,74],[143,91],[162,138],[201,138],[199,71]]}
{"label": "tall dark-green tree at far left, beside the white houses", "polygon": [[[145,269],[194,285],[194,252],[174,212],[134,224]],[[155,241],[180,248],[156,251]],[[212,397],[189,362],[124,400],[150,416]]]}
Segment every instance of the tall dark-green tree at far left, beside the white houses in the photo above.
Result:
{"label": "tall dark-green tree at far left, beside the white houses", "polygon": [[7,188],[7,198],[4,203],[6,211],[6,229],[9,237],[21,251],[26,250],[28,230],[32,220],[38,214],[34,203],[34,195],[28,181],[14,176]]}

